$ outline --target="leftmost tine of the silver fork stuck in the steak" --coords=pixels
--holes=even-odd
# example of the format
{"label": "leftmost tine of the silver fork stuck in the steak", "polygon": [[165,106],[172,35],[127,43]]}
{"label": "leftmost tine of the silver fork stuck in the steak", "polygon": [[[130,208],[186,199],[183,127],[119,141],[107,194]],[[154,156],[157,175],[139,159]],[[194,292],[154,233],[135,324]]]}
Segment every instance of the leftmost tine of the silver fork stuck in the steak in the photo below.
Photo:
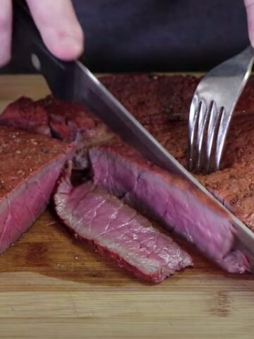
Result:
{"label": "leftmost tine of the silver fork stuck in the steak", "polygon": [[198,117],[199,117],[199,103],[198,96],[194,95],[191,102],[189,123],[188,123],[188,169],[191,171],[194,167],[195,161],[195,139],[198,131]]}

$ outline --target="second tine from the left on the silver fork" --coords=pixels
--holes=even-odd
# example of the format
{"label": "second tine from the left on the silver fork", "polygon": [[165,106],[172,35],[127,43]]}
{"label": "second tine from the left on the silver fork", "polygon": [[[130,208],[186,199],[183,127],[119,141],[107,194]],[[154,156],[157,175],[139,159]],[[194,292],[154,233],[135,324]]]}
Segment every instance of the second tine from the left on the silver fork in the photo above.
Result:
{"label": "second tine from the left on the silver fork", "polygon": [[[208,109],[209,111],[209,109]],[[203,162],[203,145],[204,145],[204,138],[205,138],[205,126],[207,125],[207,118],[209,112],[207,111],[207,105],[205,104],[204,100],[200,100],[200,112],[198,117],[198,135],[196,141],[197,147],[197,162],[195,166],[195,170],[200,172],[202,169],[202,162]]]}

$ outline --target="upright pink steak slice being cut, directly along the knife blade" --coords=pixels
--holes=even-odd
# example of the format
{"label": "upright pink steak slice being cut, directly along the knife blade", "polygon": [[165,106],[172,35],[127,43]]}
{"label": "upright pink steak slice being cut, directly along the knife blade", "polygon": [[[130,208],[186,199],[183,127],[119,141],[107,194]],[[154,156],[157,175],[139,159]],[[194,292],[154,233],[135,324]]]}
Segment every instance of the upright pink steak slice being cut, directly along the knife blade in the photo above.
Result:
{"label": "upright pink steak slice being cut, directly along the knife blade", "polygon": [[229,215],[191,184],[123,144],[91,148],[90,162],[95,184],[181,234],[229,272],[248,270],[246,257],[234,248],[235,230]]}

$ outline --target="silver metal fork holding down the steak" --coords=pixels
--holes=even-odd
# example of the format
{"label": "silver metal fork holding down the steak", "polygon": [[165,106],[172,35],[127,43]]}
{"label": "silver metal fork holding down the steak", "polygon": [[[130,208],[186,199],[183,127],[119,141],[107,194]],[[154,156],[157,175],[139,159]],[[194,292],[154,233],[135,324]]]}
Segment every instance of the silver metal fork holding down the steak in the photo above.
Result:
{"label": "silver metal fork holding down the steak", "polygon": [[253,66],[249,46],[206,74],[191,102],[188,123],[188,169],[210,173],[221,165],[231,117]]}

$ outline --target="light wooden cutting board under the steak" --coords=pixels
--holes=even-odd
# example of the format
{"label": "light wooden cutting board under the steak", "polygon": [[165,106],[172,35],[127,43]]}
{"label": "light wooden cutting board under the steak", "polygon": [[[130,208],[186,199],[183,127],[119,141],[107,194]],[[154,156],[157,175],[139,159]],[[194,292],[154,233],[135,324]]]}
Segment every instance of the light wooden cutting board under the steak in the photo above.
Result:
{"label": "light wooden cutting board under the steak", "polygon": [[[49,93],[39,76],[1,76],[0,109]],[[49,210],[0,256],[0,338],[254,338],[254,278],[195,268],[140,282],[78,244]]]}

